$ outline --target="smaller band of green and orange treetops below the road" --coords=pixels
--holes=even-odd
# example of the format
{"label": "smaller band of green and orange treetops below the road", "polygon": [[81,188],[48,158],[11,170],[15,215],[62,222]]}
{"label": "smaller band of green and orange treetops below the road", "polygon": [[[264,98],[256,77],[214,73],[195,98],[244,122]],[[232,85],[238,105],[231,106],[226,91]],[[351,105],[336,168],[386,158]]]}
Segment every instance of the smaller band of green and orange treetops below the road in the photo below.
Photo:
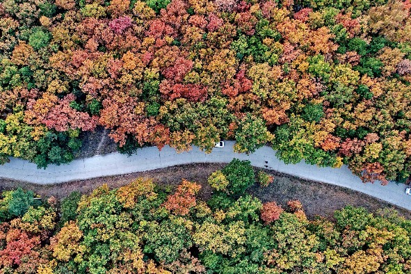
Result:
{"label": "smaller band of green and orange treetops below the road", "polygon": [[184,179],[175,191],[137,179],[90,195],[74,192],[61,207],[53,198],[33,200],[30,191],[3,192],[0,273],[411,271],[411,221],[395,211],[346,207],[333,221],[308,220],[297,200],[283,208],[246,194],[255,182],[246,161],[232,161],[209,182],[208,201],[196,197],[199,184]]}

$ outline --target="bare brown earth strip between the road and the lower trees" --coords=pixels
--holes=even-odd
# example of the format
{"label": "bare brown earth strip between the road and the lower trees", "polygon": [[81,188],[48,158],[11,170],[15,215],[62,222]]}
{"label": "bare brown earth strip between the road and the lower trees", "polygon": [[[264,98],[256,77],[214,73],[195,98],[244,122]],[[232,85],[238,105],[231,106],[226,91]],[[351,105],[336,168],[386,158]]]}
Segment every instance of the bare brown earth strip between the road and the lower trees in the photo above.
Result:
{"label": "bare brown earth strip between the road and the lower trees", "polygon": [[[202,185],[200,197],[206,199],[211,195],[211,188],[207,184],[207,177],[216,170],[220,170],[225,163],[200,163],[185,166],[173,166],[145,172],[136,172],[127,175],[116,175],[110,177],[94,178],[81,181],[67,182],[56,185],[36,185],[26,182],[16,182],[9,179],[0,178],[0,190],[22,187],[38,193],[42,197],[53,195],[61,199],[69,195],[72,191],[90,193],[92,189],[107,184],[110,188],[117,188],[128,184],[138,177],[151,177],[159,186],[175,187],[182,181],[182,178]],[[255,170],[260,170],[255,168]],[[321,182],[312,182],[298,177],[291,177],[278,172],[265,170],[275,177],[273,184],[262,188],[255,184],[248,192],[257,196],[262,202],[275,201],[283,206],[289,200],[300,200],[303,203],[307,216],[312,218],[316,215],[332,218],[332,213],[345,207],[353,205],[365,207],[374,212],[377,209],[396,209],[405,218],[411,219],[411,211],[396,207],[392,204],[372,198],[369,195],[351,191],[340,186],[333,186]]]}

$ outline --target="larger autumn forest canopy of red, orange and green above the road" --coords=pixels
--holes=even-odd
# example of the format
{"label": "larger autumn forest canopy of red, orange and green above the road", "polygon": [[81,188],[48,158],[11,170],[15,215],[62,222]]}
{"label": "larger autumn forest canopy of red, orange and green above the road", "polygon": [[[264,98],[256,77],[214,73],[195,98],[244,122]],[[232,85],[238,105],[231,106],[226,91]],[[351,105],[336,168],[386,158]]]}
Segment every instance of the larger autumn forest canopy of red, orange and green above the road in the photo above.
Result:
{"label": "larger autumn forest canopy of red, orange and green above the road", "polygon": [[0,161],[66,163],[81,132],[120,150],[210,151],[411,172],[409,0],[1,0]]}

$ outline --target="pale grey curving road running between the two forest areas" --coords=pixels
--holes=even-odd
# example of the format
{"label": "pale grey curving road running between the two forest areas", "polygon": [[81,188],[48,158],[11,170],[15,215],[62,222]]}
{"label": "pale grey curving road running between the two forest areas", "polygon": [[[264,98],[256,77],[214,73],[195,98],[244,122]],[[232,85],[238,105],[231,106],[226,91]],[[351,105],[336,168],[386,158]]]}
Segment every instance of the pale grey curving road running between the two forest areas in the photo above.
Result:
{"label": "pale grey curving road running between the two forest areas", "polygon": [[405,194],[404,184],[390,183],[363,184],[346,166],[341,168],[320,168],[301,162],[285,164],[275,156],[271,147],[261,147],[252,154],[233,152],[234,141],[225,141],[225,147],[214,148],[205,154],[198,147],[189,152],[177,153],[171,147],[145,147],[134,155],[127,156],[118,152],[87,159],[77,159],[67,165],[51,165],[45,170],[38,169],[34,163],[22,159],[11,159],[10,163],[0,166],[0,177],[35,184],[57,184],[80,179],[90,179],[131,172],[154,170],[186,163],[229,163],[233,158],[251,161],[252,166],[267,168],[277,172],[294,175],[303,179],[335,184],[366,193],[380,200],[411,210],[411,196]]}

